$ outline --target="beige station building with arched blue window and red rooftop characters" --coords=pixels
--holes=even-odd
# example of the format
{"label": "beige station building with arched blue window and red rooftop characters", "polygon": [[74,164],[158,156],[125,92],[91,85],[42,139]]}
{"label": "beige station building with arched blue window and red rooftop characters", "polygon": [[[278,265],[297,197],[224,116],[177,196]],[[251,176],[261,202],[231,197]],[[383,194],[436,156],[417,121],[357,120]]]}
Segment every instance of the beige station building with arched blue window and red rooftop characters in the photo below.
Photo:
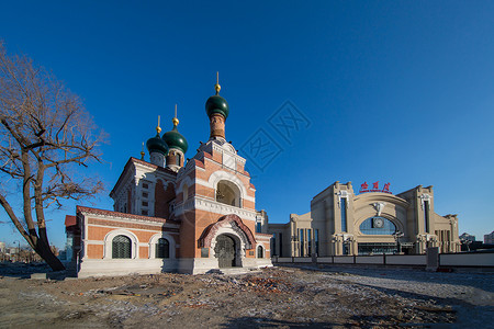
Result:
{"label": "beige station building with arched blue window and red rooftop characters", "polygon": [[393,195],[390,184],[360,193],[351,182],[335,182],[311,201],[311,212],[290,215],[287,224],[269,224],[271,252],[278,257],[460,251],[457,215],[434,211],[433,186],[418,185]]}

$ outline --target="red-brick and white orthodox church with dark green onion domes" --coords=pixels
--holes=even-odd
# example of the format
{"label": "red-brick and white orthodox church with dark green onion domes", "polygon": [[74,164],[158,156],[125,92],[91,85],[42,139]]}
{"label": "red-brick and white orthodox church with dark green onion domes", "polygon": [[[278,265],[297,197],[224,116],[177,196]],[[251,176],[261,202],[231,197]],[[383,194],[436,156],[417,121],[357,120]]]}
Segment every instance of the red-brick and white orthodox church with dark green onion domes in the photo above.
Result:
{"label": "red-brick and white orthodox church with dark green onion domes", "polygon": [[128,159],[110,193],[113,211],[77,206],[66,217],[79,277],[272,265],[266,212],[256,211],[246,160],[225,139],[229,107],[217,81],[215,90],[205,103],[210,138],[191,159],[176,111],[172,129],[160,135],[158,120],[147,140],[149,161],[144,150]]}

